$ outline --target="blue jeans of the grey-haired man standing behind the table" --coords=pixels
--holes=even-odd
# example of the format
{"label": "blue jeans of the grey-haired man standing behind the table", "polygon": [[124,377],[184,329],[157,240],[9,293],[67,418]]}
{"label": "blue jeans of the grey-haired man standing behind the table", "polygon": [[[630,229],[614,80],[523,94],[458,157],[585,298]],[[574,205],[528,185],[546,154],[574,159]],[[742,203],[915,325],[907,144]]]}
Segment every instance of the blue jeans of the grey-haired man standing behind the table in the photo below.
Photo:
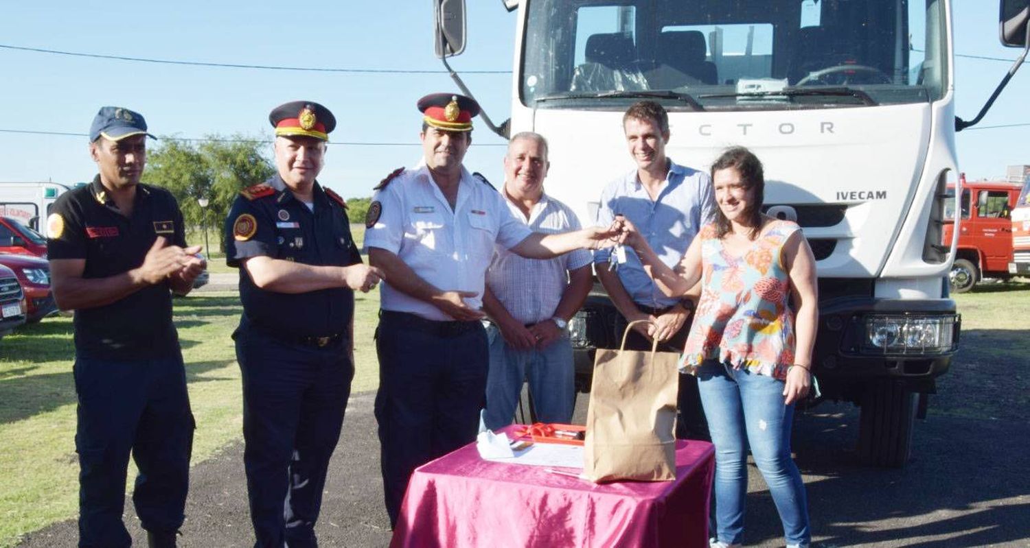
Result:
{"label": "blue jeans of the grey-haired man standing behind the table", "polygon": [[562,335],[544,349],[521,351],[508,345],[501,330],[486,328],[490,369],[486,375],[486,428],[496,430],[512,423],[528,374],[534,412],[542,423],[568,424],[576,404],[573,343]]}

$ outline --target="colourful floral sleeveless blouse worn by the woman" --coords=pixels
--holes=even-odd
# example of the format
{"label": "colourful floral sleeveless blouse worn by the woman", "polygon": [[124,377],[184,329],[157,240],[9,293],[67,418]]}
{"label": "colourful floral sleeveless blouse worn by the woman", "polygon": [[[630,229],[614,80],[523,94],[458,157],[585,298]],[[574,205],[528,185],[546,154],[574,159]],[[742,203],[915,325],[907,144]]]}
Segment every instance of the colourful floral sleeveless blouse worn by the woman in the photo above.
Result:
{"label": "colourful floral sleeveless blouse worn by the woman", "polygon": [[723,248],[715,225],[701,228],[701,296],[680,370],[717,359],[783,379],[794,363],[794,317],[783,247],[800,226],[772,221],[741,256]]}

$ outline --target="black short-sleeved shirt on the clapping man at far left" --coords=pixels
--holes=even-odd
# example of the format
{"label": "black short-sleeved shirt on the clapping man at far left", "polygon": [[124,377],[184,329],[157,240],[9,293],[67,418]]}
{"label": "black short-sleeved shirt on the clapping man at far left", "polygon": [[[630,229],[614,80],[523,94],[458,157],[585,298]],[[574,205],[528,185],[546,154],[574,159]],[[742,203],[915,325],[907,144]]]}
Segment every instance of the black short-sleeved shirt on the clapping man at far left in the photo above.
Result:
{"label": "black short-sleeved shirt on the clapping man at far left", "polygon": [[[159,234],[170,245],[185,246],[175,198],[150,185],[137,185],[132,217],[118,212],[99,175],[90,185],[61,194],[52,214],[61,216],[63,229],[48,234],[47,256],[85,259],[82,278],[107,278],[138,267]],[[79,356],[131,360],[178,352],[167,282],[104,306],[75,310],[74,324]]]}

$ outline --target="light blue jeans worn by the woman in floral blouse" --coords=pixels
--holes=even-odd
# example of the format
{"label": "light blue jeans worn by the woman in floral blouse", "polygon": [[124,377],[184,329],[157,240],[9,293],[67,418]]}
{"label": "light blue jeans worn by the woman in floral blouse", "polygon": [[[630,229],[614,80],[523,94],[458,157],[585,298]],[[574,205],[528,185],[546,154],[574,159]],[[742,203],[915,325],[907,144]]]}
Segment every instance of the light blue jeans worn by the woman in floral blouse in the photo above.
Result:
{"label": "light blue jeans worn by the woman in floral blouse", "polygon": [[715,444],[718,540],[744,541],[750,444],[780,512],[787,544],[811,542],[804,482],[790,458],[794,405],[784,404],[783,380],[714,361],[698,368],[697,380]]}

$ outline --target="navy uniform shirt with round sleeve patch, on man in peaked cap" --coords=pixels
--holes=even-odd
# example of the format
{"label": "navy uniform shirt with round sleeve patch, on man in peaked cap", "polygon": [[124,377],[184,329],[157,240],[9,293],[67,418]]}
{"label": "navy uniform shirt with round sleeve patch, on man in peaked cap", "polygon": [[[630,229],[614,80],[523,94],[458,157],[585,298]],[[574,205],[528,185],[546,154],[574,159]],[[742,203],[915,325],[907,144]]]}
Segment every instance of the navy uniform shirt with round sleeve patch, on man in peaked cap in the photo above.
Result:
{"label": "navy uniform shirt with round sleeve patch, on man in peaked cap", "polygon": [[[327,195],[321,185],[314,184],[312,211],[294,197],[278,175],[265,184],[274,191],[260,197],[242,192],[226,219],[230,266],[240,268],[244,259],[260,256],[320,266],[362,262],[344,206]],[[277,293],[255,286],[245,268],[240,268],[240,300],[241,327],[286,338],[345,335],[354,314],[354,292],[349,288]]]}

